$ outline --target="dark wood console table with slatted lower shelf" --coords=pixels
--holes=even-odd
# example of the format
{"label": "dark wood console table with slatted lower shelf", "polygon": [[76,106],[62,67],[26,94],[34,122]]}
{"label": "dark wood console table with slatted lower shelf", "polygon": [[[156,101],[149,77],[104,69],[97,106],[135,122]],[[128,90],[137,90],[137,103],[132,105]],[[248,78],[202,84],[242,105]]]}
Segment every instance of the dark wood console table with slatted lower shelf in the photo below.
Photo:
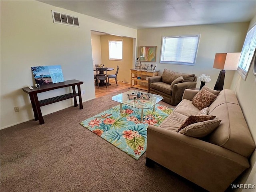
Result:
{"label": "dark wood console table with slatted lower shelf", "polygon": [[[79,107],[80,107],[80,109],[83,109],[81,88],[80,88],[80,85],[83,83],[84,82],[78,81],[78,80],[68,80],[68,81],[64,81],[64,82],[60,82],[60,83],[43,85],[40,88],[36,88],[35,86],[32,86],[33,87],[32,90],[30,90],[28,87],[24,87],[24,88],[22,88],[22,90],[24,92],[26,92],[27,94],[29,94],[35,120],[39,120],[40,124],[44,124],[44,118],[42,116],[42,112],[40,109],[41,106],[45,106],[45,105],[52,104],[55,102],[74,98],[74,106],[77,107],[78,104],[77,104],[76,97],[78,96]],[[52,98],[48,98],[48,99],[44,99],[44,100],[40,100],[40,101],[38,100],[38,96],[37,96],[38,93],[42,93],[42,92],[46,92],[46,91],[50,91],[50,90],[54,90],[54,89],[59,89],[59,88],[63,88],[63,87],[70,87],[70,86],[72,86],[72,91],[73,91],[72,93],[68,93],[68,94],[64,94],[64,95],[60,95],[60,96],[56,96],[56,97],[52,97]],[[77,86],[78,93],[76,93],[75,86]]]}

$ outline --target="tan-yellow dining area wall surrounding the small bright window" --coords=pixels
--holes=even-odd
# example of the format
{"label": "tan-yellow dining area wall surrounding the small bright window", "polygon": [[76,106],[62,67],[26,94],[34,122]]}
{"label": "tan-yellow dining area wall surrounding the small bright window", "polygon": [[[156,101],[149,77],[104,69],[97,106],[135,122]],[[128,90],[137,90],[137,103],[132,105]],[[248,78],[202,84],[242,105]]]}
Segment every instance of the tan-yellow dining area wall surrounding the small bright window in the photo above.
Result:
{"label": "tan-yellow dining area wall surrounding the small bright window", "polygon": [[[126,38],[114,35],[102,35],[101,39],[101,56],[102,64],[106,67],[114,68],[114,71],[109,71],[108,74],[115,74],[116,68],[119,66],[117,80],[122,82],[130,82],[130,69],[133,65],[133,38]],[[109,60],[108,40],[123,40],[123,60]]]}

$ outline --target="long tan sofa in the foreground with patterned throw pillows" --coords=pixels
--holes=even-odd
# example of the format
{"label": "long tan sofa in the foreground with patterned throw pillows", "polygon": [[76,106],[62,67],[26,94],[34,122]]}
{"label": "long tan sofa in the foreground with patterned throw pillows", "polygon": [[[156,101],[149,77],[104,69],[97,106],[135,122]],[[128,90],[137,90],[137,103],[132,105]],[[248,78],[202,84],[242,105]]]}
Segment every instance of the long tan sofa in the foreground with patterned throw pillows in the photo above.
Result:
{"label": "long tan sofa in the foreground with patterned throw pillows", "polygon": [[221,120],[213,132],[200,139],[177,132],[200,111],[192,104],[197,92],[186,89],[173,113],[160,126],[148,127],[146,165],[157,162],[210,192],[222,192],[250,167],[255,144],[236,95],[227,89],[208,108],[208,115]]}

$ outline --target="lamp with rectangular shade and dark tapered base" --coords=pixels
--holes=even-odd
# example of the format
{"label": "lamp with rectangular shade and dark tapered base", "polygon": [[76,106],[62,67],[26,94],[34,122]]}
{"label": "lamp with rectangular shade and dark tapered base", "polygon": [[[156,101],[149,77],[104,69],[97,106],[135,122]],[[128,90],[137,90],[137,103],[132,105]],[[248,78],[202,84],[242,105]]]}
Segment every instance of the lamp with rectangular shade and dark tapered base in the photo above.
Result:
{"label": "lamp with rectangular shade and dark tapered base", "polygon": [[221,69],[214,90],[222,90],[225,70],[237,70],[241,53],[216,53],[213,68]]}

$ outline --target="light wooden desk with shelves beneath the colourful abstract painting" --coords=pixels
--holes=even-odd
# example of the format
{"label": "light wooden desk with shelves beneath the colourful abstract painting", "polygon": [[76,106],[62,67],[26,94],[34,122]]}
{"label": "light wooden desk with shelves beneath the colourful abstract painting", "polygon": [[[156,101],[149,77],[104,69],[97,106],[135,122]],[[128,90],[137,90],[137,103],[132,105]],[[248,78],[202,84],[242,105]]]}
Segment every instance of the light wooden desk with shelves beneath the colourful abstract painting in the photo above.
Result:
{"label": "light wooden desk with shelves beneath the colourful abstract painting", "polygon": [[[143,70],[143,69],[131,69],[131,87],[147,91],[148,80],[146,79],[146,77],[157,76],[158,72],[159,70],[153,71],[153,70]],[[140,77],[140,79],[138,79],[138,77]],[[132,81],[134,83],[132,83]],[[139,84],[139,82],[146,83],[146,86]]]}

